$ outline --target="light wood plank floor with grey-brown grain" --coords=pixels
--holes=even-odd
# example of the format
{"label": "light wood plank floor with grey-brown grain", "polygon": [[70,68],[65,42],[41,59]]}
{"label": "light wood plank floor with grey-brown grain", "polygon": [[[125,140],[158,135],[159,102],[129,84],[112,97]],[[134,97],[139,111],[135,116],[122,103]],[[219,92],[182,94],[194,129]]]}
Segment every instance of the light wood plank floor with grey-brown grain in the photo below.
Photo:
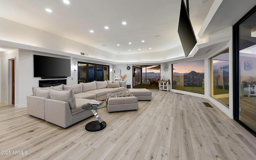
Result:
{"label": "light wood plank floor with grey-brown grain", "polygon": [[26,108],[0,106],[0,150],[11,152],[0,159],[256,160],[256,138],[215,106],[205,107],[208,100],[151,91],[139,110],[100,109],[107,126],[98,132],[84,129],[95,117],[61,128]]}

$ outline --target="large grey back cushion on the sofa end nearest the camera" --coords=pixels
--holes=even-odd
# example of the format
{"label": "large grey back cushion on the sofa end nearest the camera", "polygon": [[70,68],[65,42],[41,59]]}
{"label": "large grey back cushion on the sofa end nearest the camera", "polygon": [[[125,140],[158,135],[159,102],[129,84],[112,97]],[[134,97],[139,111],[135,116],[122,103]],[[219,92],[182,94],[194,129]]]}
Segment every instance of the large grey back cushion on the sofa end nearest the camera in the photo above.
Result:
{"label": "large grey back cushion on the sofa end nearest the camera", "polygon": [[68,102],[70,108],[76,108],[76,97],[72,89],[56,90],[51,88],[49,93],[51,99]]}

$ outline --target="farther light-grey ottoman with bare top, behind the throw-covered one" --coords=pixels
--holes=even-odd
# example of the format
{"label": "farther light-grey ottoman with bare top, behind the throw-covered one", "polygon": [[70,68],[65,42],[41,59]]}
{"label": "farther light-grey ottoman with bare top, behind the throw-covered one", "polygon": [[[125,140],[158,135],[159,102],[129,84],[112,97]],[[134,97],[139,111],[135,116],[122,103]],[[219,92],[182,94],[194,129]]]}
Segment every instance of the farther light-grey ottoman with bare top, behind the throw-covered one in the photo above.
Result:
{"label": "farther light-grey ottoman with bare top, behind the throw-covered one", "polygon": [[138,100],[151,100],[152,92],[146,88],[130,88],[128,92],[134,94]]}

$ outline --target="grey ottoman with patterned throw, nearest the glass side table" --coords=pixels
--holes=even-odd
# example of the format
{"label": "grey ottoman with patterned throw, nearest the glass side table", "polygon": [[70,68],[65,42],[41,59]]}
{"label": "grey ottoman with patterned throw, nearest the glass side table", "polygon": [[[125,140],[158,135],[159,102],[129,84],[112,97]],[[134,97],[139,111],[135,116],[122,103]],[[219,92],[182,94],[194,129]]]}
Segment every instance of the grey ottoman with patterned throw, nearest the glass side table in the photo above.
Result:
{"label": "grey ottoman with patterned throw, nearest the glass side table", "polygon": [[108,112],[138,110],[138,98],[136,96],[129,97],[111,97],[108,98]]}

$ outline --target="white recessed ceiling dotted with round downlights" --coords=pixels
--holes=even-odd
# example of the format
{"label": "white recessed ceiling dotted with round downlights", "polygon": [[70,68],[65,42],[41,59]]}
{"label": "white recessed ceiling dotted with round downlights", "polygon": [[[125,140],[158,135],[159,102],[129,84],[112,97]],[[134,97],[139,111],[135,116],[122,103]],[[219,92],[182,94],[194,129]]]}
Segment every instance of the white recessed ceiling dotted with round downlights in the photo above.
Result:
{"label": "white recessed ceiling dotted with round downlights", "polygon": [[[161,52],[181,45],[178,36],[180,2],[70,0],[70,4],[64,4],[62,0],[0,0],[0,17],[113,54]],[[197,38],[213,2],[189,2],[190,19]],[[52,9],[52,13],[45,8]],[[127,22],[125,26],[123,21]],[[158,35],[160,37],[156,38]]]}

